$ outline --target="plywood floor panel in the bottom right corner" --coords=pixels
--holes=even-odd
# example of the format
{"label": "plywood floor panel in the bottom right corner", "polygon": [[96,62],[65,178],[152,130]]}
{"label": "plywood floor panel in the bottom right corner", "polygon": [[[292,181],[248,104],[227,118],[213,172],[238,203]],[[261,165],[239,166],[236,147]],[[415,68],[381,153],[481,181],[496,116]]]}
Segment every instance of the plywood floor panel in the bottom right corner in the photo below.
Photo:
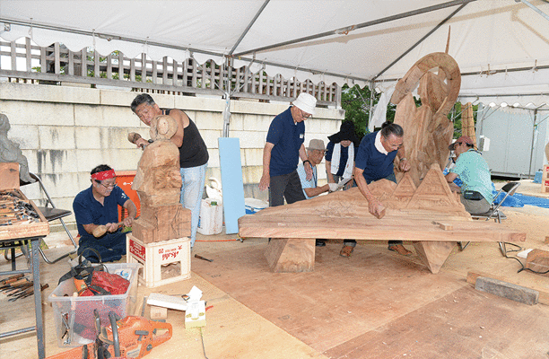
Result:
{"label": "plywood floor panel in the bottom right corner", "polygon": [[327,350],[330,358],[546,358],[546,306],[466,286]]}

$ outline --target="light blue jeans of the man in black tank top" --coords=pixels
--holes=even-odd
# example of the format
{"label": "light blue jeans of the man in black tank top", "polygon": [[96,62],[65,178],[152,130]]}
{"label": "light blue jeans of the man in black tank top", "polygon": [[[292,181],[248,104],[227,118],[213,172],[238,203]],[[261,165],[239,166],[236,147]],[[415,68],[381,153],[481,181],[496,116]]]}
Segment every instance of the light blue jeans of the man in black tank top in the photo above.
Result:
{"label": "light blue jeans of the man in black tank top", "polygon": [[204,193],[205,170],[208,163],[202,166],[182,168],[181,180],[181,206],[191,210],[191,249],[195,246],[196,228],[198,227],[198,217],[200,215],[200,204],[202,194]]}

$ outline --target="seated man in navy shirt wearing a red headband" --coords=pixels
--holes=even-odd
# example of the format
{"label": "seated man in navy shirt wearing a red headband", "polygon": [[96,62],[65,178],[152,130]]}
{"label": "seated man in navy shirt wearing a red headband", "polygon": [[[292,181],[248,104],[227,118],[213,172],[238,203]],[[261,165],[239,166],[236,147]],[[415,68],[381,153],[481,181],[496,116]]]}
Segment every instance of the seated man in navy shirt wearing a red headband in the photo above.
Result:
{"label": "seated man in navy shirt wearing a red headband", "polygon": [[[80,241],[78,254],[92,263],[98,263],[99,258],[91,248],[97,250],[102,262],[119,260],[126,254],[126,232],[118,228],[118,206],[127,209],[128,216],[124,225],[132,225],[137,208],[126,193],[116,185],[115,171],[106,164],[94,168],[90,174],[92,186],[84,189],[74,197],[73,210]],[[92,232],[98,226],[105,225],[107,232],[96,238]]]}

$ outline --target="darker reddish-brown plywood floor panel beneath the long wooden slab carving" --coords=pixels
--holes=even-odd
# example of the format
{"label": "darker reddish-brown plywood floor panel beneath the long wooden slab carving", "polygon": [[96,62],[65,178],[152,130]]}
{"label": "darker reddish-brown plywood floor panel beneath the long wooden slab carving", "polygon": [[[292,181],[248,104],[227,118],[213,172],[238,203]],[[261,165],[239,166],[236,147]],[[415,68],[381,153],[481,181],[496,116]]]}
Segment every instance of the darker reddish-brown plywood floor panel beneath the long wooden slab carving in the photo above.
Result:
{"label": "darker reddish-brown plywood floor panel beneath the long wooden slab carving", "polygon": [[213,253],[213,262],[193,260],[192,267],[252,311],[324,352],[466,285],[457,276],[432,275],[386,246],[358,246],[351,258],[342,258],[341,244],[328,243],[317,248],[315,271],[309,273],[272,273],[266,245]]}

